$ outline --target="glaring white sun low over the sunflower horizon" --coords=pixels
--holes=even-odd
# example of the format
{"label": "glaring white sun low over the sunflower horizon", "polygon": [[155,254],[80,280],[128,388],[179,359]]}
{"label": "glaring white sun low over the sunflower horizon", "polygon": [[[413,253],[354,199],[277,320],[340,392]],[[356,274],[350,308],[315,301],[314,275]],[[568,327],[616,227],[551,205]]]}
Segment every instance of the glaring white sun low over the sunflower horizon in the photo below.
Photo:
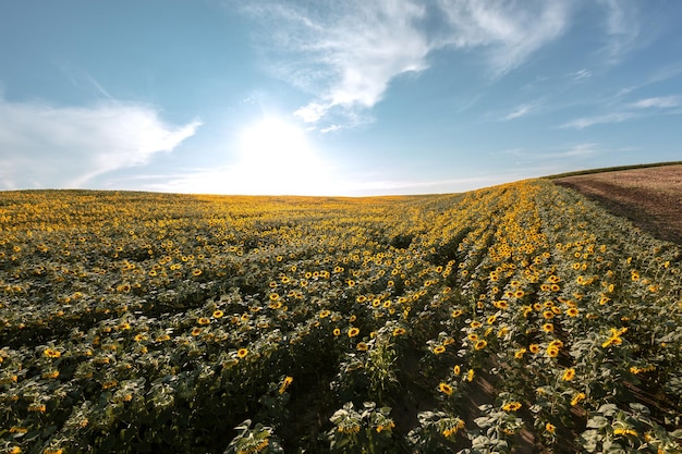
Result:
{"label": "glaring white sun low over the sunflower horizon", "polygon": [[266,118],[242,132],[240,186],[251,194],[317,195],[328,179],[306,132],[279,118]]}

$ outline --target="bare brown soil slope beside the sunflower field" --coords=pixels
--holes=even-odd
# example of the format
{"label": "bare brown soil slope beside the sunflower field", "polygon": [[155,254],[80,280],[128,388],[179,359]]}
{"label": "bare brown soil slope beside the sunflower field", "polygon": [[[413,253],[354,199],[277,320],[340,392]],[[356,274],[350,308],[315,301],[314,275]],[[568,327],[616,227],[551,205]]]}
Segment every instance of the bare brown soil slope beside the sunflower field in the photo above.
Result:
{"label": "bare brown soil slope beside the sunflower field", "polygon": [[553,180],[579,191],[653,236],[682,245],[682,165],[620,170]]}

